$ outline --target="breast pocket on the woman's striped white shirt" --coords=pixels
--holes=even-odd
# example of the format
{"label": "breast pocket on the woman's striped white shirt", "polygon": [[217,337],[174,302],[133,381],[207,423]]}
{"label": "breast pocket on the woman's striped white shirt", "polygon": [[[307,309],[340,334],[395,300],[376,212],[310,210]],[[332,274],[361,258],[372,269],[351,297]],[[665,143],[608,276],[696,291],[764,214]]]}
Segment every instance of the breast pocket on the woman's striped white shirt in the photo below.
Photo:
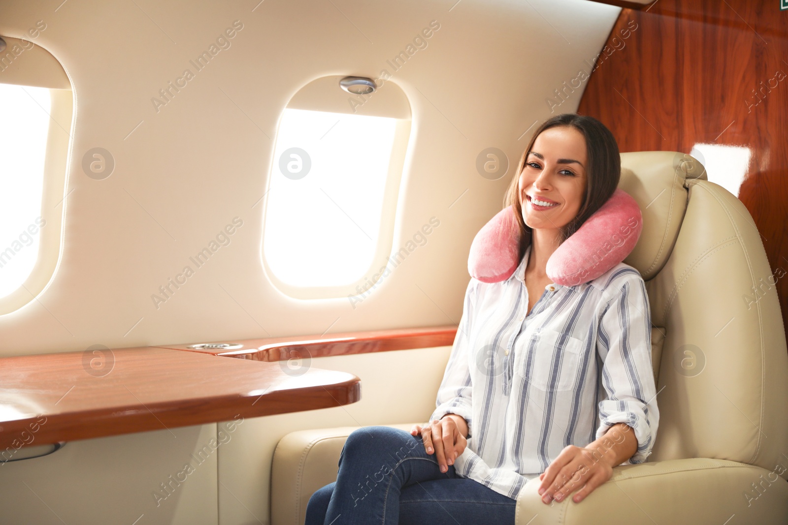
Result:
{"label": "breast pocket on the woman's striped white shirt", "polygon": [[515,374],[545,392],[572,390],[580,376],[585,342],[547,328],[530,336],[515,356]]}

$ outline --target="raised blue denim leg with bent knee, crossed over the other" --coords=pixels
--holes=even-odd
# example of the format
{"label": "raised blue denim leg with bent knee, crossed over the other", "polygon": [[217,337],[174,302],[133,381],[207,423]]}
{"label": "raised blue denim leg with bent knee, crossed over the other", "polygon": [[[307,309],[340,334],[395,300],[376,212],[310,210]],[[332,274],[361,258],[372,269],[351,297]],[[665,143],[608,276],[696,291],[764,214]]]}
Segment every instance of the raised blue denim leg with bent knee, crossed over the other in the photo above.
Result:
{"label": "raised blue denim leg with bent knee, crossed over the other", "polygon": [[391,427],[359,428],[342,449],[323,523],[397,525],[403,487],[456,477],[453,465],[440,471],[435,454],[426,453],[421,438]]}

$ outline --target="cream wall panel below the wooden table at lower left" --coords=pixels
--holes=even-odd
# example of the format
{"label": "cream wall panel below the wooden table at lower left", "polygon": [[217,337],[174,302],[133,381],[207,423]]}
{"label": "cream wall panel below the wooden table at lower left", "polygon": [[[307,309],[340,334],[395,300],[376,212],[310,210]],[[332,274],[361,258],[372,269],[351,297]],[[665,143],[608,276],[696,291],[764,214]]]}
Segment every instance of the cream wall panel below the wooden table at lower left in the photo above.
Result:
{"label": "cream wall panel below the wooden table at lower left", "polygon": [[218,454],[242,427],[222,444],[213,423],[69,442],[0,463],[0,523],[215,525]]}

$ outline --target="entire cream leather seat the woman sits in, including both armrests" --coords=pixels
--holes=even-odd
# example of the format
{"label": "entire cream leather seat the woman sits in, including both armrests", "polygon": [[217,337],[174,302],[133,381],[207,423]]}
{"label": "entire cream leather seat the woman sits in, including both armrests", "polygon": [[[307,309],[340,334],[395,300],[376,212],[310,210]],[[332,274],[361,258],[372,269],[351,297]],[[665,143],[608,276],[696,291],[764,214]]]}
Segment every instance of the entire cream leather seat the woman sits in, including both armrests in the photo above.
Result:
{"label": "entire cream leather seat the woman sits in, including both armrests", "polygon": [[[773,286],[782,274],[772,276],[745,206],[708,182],[697,160],[666,151],[621,160],[619,187],[644,221],[625,262],[649,292],[656,443],[646,463],[616,467],[579,504],[545,505],[539,479],[530,480],[516,523],[788,523],[788,353]],[[336,480],[355,428],[282,438],[273,457],[273,525],[303,523],[311,494]]]}

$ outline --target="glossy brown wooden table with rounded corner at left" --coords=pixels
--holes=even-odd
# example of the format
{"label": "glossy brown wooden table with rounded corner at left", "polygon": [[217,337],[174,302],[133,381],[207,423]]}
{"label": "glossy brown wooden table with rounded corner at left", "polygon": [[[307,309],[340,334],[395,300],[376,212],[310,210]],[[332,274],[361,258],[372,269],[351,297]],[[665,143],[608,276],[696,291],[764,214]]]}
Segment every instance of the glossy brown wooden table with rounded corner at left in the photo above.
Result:
{"label": "glossy brown wooden table with rounded corner at left", "polygon": [[[325,409],[361,398],[359,378],[161,348],[0,359],[0,460],[25,443],[131,434]],[[3,453],[5,452],[5,456]]]}

